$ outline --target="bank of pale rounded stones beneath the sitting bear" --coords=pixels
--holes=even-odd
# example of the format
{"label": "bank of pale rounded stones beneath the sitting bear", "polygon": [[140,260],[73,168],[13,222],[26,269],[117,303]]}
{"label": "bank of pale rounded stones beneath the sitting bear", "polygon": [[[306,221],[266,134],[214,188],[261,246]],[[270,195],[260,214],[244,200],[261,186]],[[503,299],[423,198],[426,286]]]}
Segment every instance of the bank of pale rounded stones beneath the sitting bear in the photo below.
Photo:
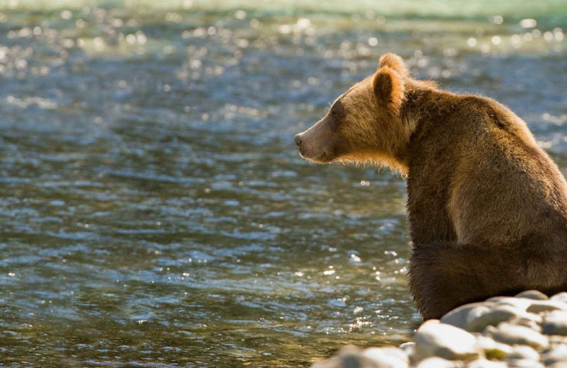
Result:
{"label": "bank of pale rounded stones beneath the sitting bear", "polygon": [[399,347],[343,347],[312,368],[567,368],[567,292],[460,306]]}

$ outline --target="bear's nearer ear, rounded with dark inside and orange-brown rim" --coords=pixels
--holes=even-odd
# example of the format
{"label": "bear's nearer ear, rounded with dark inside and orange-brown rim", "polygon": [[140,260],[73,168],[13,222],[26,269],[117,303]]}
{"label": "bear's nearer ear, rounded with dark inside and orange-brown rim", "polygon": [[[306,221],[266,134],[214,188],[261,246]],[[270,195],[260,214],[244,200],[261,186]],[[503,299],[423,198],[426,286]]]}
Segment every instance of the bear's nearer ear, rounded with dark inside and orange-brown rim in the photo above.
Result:
{"label": "bear's nearer ear, rounded with dark inside and orange-brown rim", "polygon": [[373,87],[378,102],[386,105],[394,115],[398,115],[405,98],[400,75],[389,67],[382,67],[376,71]]}

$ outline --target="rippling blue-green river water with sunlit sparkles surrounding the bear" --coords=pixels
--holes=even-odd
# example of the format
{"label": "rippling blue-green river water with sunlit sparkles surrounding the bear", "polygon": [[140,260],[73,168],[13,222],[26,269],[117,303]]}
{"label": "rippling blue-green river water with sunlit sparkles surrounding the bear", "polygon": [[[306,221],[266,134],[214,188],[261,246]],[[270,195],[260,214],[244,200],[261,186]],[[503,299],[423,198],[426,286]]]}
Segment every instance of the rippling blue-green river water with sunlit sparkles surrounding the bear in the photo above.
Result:
{"label": "rippling blue-green river water with sunlit sparkles surrounding the bear", "polygon": [[566,173],[567,5],[469,3],[0,1],[0,361],[408,340],[403,179],[313,166],[293,134],[398,52],[509,105]]}

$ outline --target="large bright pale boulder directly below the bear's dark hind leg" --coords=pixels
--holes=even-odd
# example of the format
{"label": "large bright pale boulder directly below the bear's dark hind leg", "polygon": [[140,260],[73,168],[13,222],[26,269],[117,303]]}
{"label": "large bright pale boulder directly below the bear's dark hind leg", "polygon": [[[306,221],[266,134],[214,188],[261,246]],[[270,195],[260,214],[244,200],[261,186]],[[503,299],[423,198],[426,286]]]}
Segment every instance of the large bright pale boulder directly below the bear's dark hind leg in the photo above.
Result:
{"label": "large bright pale boulder directly below the bear's dark hind leg", "polygon": [[413,340],[415,352],[412,360],[415,362],[432,356],[448,360],[471,360],[481,355],[474,335],[438,320],[423,323],[415,332]]}

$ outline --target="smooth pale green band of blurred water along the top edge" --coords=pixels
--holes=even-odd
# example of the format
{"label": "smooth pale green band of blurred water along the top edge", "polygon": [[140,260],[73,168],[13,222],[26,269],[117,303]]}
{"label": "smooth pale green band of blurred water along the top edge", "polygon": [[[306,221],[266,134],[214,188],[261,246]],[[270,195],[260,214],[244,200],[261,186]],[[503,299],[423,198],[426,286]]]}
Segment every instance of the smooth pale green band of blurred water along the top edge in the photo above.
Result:
{"label": "smooth pale green band of blurred water along the top edge", "polygon": [[85,6],[140,11],[237,11],[301,13],[365,13],[373,10],[383,16],[434,16],[473,18],[477,16],[556,16],[564,17],[567,4],[561,0],[537,1],[460,1],[460,0],[2,0],[0,8],[20,11],[79,10]]}

